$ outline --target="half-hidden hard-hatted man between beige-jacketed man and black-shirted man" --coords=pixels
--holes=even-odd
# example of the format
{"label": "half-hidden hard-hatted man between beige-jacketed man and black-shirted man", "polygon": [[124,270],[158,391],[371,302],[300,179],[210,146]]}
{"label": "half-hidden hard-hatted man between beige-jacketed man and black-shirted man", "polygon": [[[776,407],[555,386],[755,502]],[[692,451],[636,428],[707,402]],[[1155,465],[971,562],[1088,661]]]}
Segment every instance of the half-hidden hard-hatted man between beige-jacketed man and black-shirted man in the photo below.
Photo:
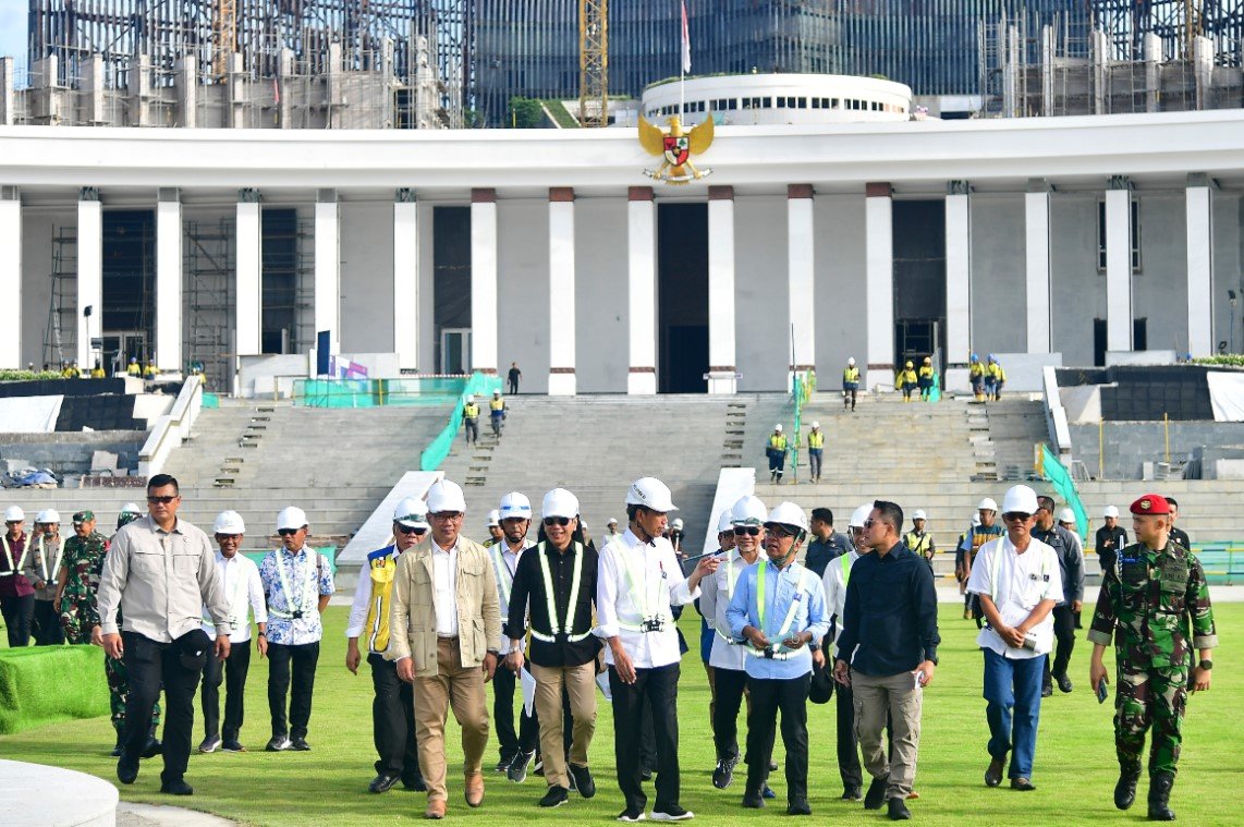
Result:
{"label": "half-hidden hard-hatted man between beige-jacketed man and black-shirted man", "polygon": [[[498,612],[501,616],[501,645],[498,658],[510,653],[511,635],[506,631],[510,617],[510,594],[514,591],[514,572],[519,568],[522,553],[535,542],[527,538],[531,530],[531,500],[520,491],[510,491],[501,497],[501,507],[494,511],[503,531],[501,540],[488,546],[493,561],[493,573],[496,576],[496,596],[500,601]],[[486,543],[485,543],[486,545]],[[493,675],[493,729],[496,731],[500,760],[494,767],[505,772],[515,783],[522,783],[527,769],[535,761],[540,746],[540,720],[526,709],[519,715],[519,726],[514,726],[514,691],[521,679],[510,669],[498,669]]]}

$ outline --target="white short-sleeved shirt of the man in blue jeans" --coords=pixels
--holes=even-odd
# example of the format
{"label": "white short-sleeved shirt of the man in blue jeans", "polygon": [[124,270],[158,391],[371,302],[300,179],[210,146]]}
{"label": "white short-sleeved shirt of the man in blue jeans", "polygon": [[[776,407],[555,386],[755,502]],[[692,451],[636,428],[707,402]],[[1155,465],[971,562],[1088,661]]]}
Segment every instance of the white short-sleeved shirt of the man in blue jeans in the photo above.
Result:
{"label": "white short-sleeved shirt of the man in blue jeans", "polygon": [[[1062,599],[1062,571],[1059,568],[1057,553],[1035,537],[1029,541],[1024,553],[1018,553],[1015,545],[1005,535],[990,540],[980,547],[972,565],[968,591],[973,594],[988,594],[998,607],[1003,623],[1019,626],[1041,601]],[[1046,614],[1028,633],[1036,643],[1035,649],[1008,645],[988,626],[977,635],[977,645],[1015,660],[1041,658],[1054,648],[1054,614]]]}

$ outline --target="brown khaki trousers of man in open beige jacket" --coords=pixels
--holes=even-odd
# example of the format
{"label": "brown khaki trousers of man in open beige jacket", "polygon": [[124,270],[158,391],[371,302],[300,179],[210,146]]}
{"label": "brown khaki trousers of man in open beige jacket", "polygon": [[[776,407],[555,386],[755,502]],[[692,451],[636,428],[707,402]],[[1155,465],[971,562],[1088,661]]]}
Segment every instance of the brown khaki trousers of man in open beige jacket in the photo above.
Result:
{"label": "brown khaki trousers of man in open beige jacket", "polygon": [[438,638],[437,674],[414,679],[414,735],[429,801],[449,798],[445,792],[445,716],[450,708],[463,729],[465,775],[478,775],[488,746],[484,669],[462,665],[458,638]]}

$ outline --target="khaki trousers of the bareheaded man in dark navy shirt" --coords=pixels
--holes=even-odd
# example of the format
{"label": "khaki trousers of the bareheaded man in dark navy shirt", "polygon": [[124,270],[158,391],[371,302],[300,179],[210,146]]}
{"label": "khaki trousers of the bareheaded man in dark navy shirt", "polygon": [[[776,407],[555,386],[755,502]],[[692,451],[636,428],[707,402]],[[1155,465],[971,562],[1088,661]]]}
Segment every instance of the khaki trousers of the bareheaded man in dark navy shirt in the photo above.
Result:
{"label": "khaki trousers of the bareheaded man in dark navy shirt", "polygon": [[[916,782],[916,754],[921,746],[921,706],[924,690],[916,688],[909,672],[897,675],[851,673],[855,699],[855,730],[863,752],[863,765],[873,778],[889,775],[886,800],[906,798]],[[889,764],[886,764],[886,714],[893,726]]]}

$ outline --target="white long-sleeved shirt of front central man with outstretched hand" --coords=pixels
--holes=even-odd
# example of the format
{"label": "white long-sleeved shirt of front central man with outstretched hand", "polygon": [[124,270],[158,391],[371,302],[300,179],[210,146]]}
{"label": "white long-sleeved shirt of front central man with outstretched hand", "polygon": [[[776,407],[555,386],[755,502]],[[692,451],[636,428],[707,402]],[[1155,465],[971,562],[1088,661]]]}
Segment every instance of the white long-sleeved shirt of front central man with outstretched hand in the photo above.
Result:
{"label": "white long-sleeved shirt of front central man with outstretched hand", "polygon": [[[642,582],[639,594],[631,587],[628,571]],[[601,550],[601,562],[596,580],[597,634],[606,640],[621,638],[622,648],[636,669],[656,669],[682,659],[678,650],[678,631],[671,608],[684,606],[700,596],[687,587],[683,568],[678,565],[674,547],[664,537],[652,543],[639,542],[629,529],[615,542]],[[641,604],[636,603],[638,598]],[[648,617],[664,619],[661,632],[639,629]],[[613,665],[613,650],[605,647],[605,663]]]}

